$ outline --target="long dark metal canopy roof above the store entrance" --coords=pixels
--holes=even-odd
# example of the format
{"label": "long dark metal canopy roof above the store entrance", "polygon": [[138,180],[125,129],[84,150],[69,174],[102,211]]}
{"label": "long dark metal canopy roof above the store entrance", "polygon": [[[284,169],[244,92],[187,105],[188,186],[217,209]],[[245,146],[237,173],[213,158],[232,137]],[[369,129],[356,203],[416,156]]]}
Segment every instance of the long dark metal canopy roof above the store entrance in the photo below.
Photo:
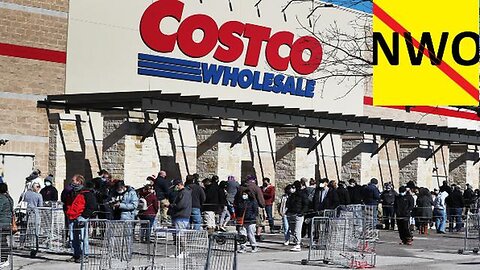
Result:
{"label": "long dark metal canopy roof above the store entrance", "polygon": [[180,94],[162,93],[161,91],[53,95],[48,96],[44,101],[39,101],[38,106],[98,112],[139,110],[166,113],[170,117],[187,119],[238,119],[256,122],[257,125],[294,126],[337,133],[366,133],[387,138],[480,145],[480,132],[475,130],[300,110],[234,100],[219,100],[217,98],[202,98],[200,96],[182,96]]}

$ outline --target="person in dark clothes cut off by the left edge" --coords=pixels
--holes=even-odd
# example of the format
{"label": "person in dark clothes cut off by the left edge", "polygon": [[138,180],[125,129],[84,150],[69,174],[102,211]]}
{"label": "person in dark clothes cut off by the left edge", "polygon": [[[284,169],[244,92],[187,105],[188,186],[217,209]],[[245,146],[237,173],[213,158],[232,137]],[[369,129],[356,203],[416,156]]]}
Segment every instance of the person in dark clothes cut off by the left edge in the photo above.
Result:
{"label": "person in dark clothes cut off by the left edge", "polygon": [[7,184],[0,183],[0,269],[10,266],[8,260],[10,247],[8,246],[7,235],[11,233],[12,220],[13,199],[8,194]]}

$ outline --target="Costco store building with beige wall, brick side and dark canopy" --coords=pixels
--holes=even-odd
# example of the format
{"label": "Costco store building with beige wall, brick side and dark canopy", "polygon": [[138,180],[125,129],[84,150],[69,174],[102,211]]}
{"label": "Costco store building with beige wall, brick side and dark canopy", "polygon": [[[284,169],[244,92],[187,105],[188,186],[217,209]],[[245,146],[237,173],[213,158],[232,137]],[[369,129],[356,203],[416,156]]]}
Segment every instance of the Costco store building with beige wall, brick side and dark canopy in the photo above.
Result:
{"label": "Costco store building with beige wall, brick side and dark canopy", "polygon": [[373,107],[371,67],[332,44],[368,35],[370,15],[290,2],[0,1],[13,196],[32,168],[58,188],[100,168],[137,187],[160,169],[279,190],[301,177],[478,187],[474,110]]}

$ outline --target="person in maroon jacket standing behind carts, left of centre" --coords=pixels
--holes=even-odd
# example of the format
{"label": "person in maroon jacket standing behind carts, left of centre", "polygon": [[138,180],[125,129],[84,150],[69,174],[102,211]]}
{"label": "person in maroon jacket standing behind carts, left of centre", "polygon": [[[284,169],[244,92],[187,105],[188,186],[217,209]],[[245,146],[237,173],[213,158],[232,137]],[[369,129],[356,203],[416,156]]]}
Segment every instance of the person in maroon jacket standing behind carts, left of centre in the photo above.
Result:
{"label": "person in maroon jacket standing behind carts, left of centre", "polygon": [[[152,180],[147,180],[145,182],[143,188],[138,190],[138,196],[140,197],[138,218],[140,220],[148,221],[148,224],[141,224],[140,240],[143,242],[149,242],[152,227],[155,223],[155,217],[157,216],[160,207]],[[140,202],[142,203],[140,204]]]}

